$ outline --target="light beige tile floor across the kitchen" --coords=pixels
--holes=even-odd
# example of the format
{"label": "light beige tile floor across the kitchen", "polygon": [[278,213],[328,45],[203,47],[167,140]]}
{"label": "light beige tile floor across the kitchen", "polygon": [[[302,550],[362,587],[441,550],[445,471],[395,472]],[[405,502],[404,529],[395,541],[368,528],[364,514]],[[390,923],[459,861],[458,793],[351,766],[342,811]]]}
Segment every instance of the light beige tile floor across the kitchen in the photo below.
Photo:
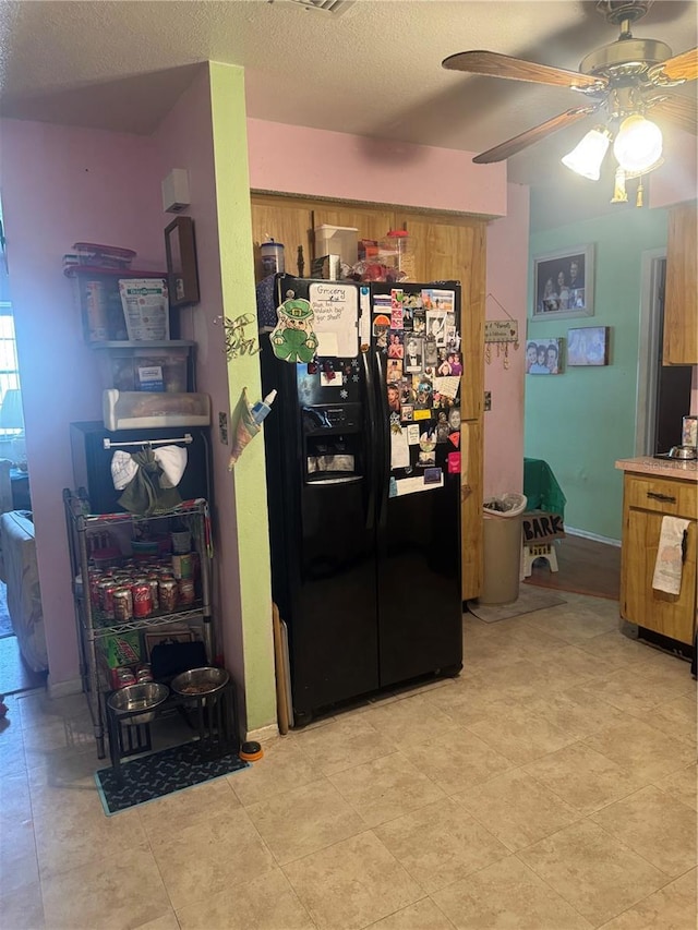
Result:
{"label": "light beige tile floor across the kitchen", "polygon": [[8,699],[0,926],[689,930],[696,688],[617,603],[484,624],[457,679],[112,818],[81,696]]}

